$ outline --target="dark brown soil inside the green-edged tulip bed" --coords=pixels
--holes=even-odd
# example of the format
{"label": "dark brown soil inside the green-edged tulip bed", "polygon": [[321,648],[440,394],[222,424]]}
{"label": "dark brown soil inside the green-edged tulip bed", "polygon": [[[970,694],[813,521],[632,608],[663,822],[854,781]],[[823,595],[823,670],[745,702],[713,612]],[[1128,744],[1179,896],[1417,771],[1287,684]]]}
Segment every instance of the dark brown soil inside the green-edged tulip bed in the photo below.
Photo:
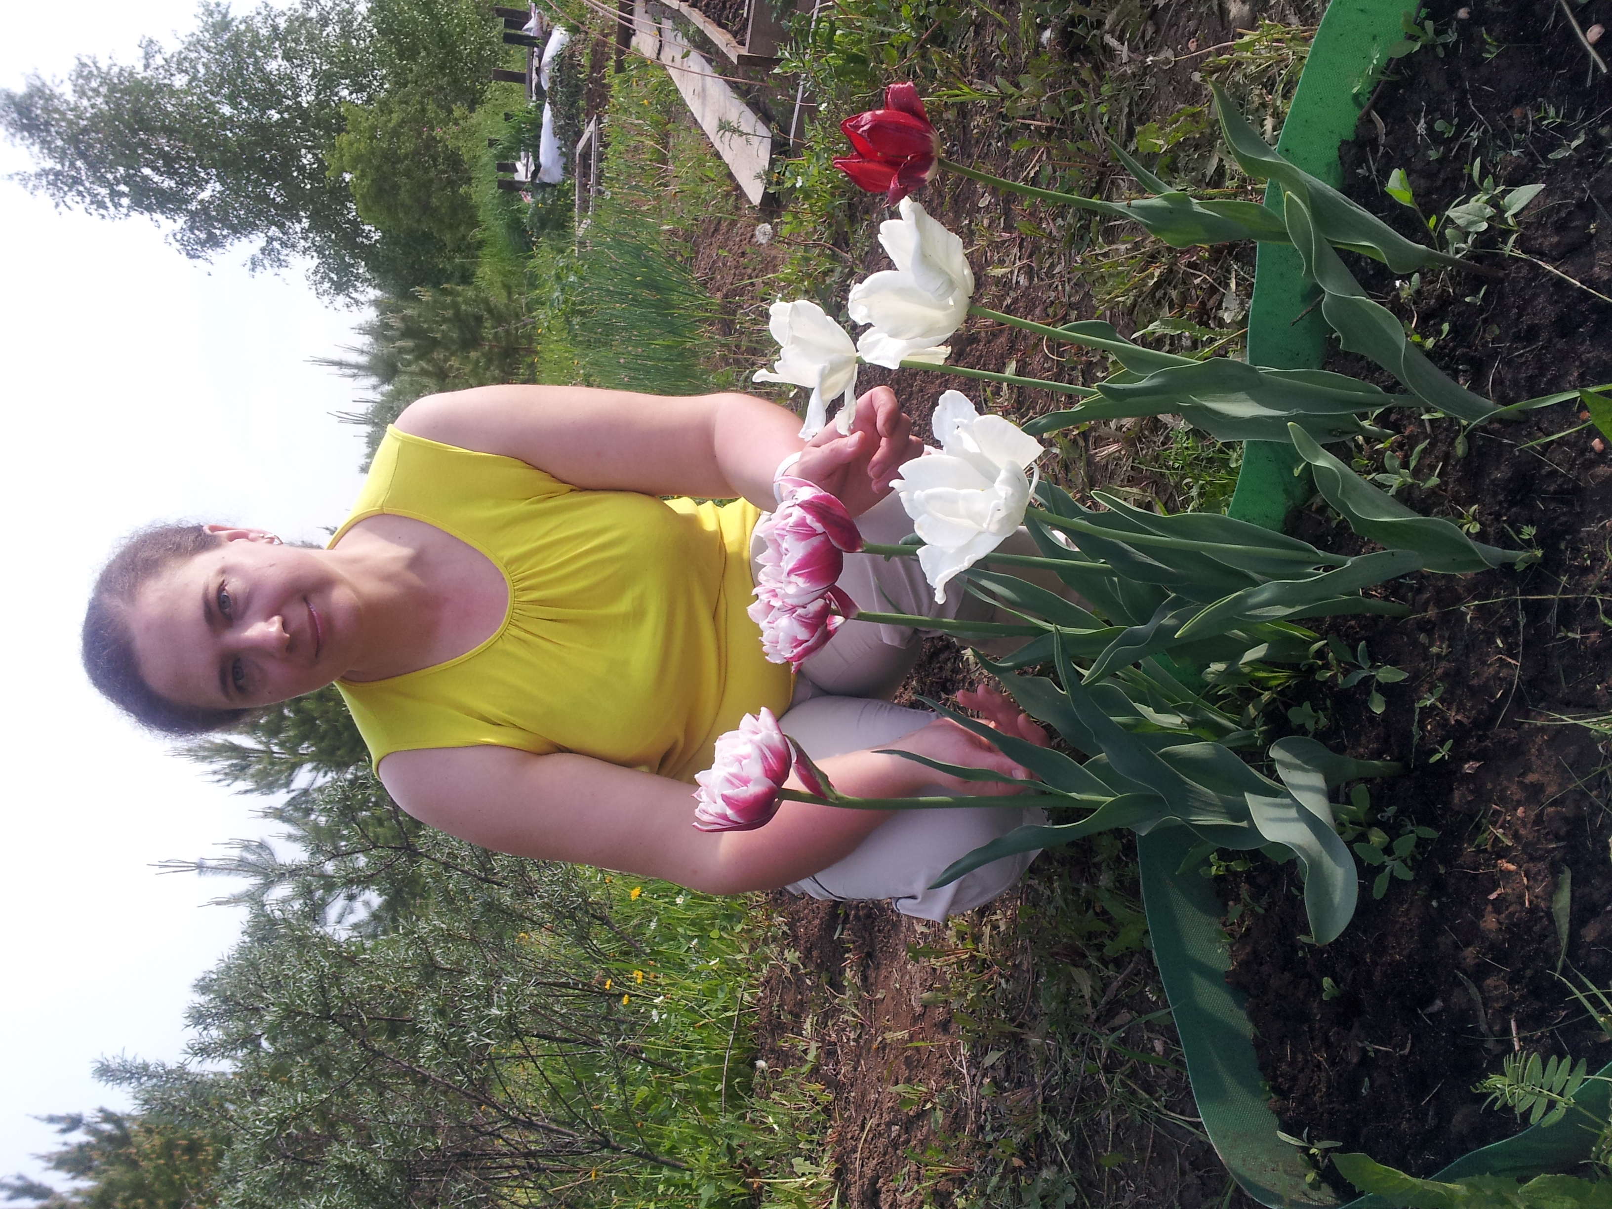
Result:
{"label": "dark brown soil inside the green-edged tulip bed", "polygon": [[[1390,172],[1402,168],[1422,213],[1441,214],[1477,192],[1472,164],[1481,156],[1480,176],[1546,185],[1522,218],[1517,248],[1612,295],[1612,85],[1556,3],[1472,3],[1467,19],[1456,8],[1430,5],[1438,29],[1459,37],[1443,56],[1423,48],[1401,60],[1401,79],[1373,106],[1381,131],[1367,118],[1344,147],[1346,189],[1415,237],[1415,214],[1383,193]],[[1573,8],[1586,27],[1612,21],[1612,0]],[[1564,147],[1572,150],[1552,158]],[[1489,234],[1481,247],[1502,239]],[[1481,260],[1504,268],[1504,279],[1423,274],[1409,297],[1380,266],[1351,268],[1436,340],[1430,356],[1446,372],[1498,401],[1612,382],[1612,303],[1535,263]],[[1390,385],[1359,358],[1338,355],[1330,368]],[[1369,685],[1311,683],[1291,695],[1328,719],[1317,732],[1328,745],[1410,767],[1370,791],[1391,812],[1381,824],[1391,835],[1404,821],[1440,832],[1419,848],[1414,880],[1373,901],[1367,870],[1349,930],[1315,948],[1296,940],[1306,927],[1291,872],[1256,864],[1228,879],[1232,898],[1246,891],[1256,904],[1230,924],[1230,978],[1249,995],[1261,1067],[1286,1128],[1422,1174],[1515,1132],[1509,1112],[1481,1111],[1472,1090],[1502,1054],[1572,1054],[1591,1069],[1612,1061],[1612,1045],[1556,977],[1552,919],[1570,869],[1562,974],[1577,969],[1607,987],[1607,753],[1594,732],[1556,724],[1612,709],[1602,611],[1612,456],[1593,427],[1549,440],[1578,426],[1578,411],[1560,405],[1486,426],[1465,456],[1454,421],[1390,413],[1388,427],[1402,432],[1394,450],[1407,456],[1428,442],[1417,477],[1436,467],[1441,479],[1401,498],[1422,513],[1473,516],[1481,540],[1536,545],[1543,558],[1522,572],[1414,577],[1390,593],[1410,606],[1409,619],[1332,625],[1351,648],[1364,642],[1373,664],[1410,672],[1383,687],[1381,714],[1367,708]],[[1340,550],[1352,542],[1319,511],[1294,517],[1294,530]],[[1323,978],[1338,988],[1333,998]]]}

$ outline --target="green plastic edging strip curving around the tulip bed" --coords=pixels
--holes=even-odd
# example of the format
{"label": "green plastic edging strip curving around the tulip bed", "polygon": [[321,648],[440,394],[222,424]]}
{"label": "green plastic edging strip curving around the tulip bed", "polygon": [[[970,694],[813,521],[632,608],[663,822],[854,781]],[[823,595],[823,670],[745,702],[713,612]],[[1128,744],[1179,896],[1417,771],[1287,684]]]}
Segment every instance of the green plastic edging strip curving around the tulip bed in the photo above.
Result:
{"label": "green plastic edging strip curving around the tulip bed", "polygon": [[[1332,0],[1315,32],[1277,147],[1332,185],[1343,184],[1338,145],[1354,134],[1373,87],[1373,69],[1402,37],[1404,10],[1406,0]],[[1280,205],[1275,185],[1265,202]],[[1278,369],[1320,368],[1327,324],[1319,311],[1304,314],[1319,292],[1304,279],[1298,253],[1280,243],[1261,243],[1257,264],[1248,359]],[[1282,529],[1288,511],[1311,493],[1309,476],[1294,476],[1298,464],[1291,447],[1249,442],[1232,516]],[[1136,846],[1153,951],[1204,1132],[1233,1178],[1261,1204],[1340,1206],[1330,1188],[1306,1183],[1307,1161],[1277,1136],[1278,1122],[1254,1057],[1244,996],[1225,982],[1232,958],[1220,927],[1220,903],[1209,879],[1196,869],[1182,870],[1194,843],[1194,835],[1172,827],[1138,837]],[[1601,1074],[1612,1075],[1612,1066]],[[1607,1083],[1588,1083],[1580,1093],[1583,1106],[1597,1114],[1607,1112]],[[1593,1138],[1593,1132],[1568,1117],[1473,1151],[1436,1178],[1564,1170],[1589,1156]],[[1362,1196],[1348,1209],[1388,1209],[1388,1203]]]}

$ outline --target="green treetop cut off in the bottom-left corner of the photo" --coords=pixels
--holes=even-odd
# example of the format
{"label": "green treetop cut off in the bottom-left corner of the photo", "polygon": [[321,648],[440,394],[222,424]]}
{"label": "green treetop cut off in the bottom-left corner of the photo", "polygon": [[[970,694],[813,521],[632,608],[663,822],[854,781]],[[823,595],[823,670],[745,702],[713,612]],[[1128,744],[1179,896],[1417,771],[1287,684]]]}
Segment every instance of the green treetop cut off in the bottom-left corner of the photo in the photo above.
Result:
{"label": "green treetop cut off in the bottom-left corner of the photo", "polygon": [[44,1157],[50,1170],[82,1186],[60,1193],[18,1175],[0,1180],[6,1201],[29,1201],[35,1209],[210,1209],[218,1204],[213,1191],[218,1138],[206,1128],[111,1109],[100,1109],[92,1117],[73,1112],[45,1120],[66,1138],[79,1135]]}

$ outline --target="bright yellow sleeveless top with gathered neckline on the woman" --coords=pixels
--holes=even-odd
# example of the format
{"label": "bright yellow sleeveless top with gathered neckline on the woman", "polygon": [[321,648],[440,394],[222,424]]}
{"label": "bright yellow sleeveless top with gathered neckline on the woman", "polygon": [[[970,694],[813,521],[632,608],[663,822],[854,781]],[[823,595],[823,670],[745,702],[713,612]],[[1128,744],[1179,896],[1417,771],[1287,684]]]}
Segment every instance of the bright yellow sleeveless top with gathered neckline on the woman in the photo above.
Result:
{"label": "bright yellow sleeveless top with gathered neckline on the woman", "polygon": [[762,658],[745,614],[761,514],[746,500],[588,492],[514,458],[388,429],[330,545],[380,513],[485,555],[509,585],[509,614],[458,659],[337,682],[376,764],[490,743],[693,780],[743,714],[790,703],[790,669]]}

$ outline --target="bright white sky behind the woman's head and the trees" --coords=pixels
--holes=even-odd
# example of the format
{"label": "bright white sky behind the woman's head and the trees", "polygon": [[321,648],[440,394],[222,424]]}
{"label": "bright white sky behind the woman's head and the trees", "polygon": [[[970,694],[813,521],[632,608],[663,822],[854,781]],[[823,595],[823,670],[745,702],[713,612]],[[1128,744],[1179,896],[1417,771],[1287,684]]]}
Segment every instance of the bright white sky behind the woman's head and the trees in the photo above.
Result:
{"label": "bright white sky behind the woman's head and the trees", "polygon": [[[0,87],[58,76],[74,53],[131,60],[142,34],[192,24],[193,0],[90,15],[6,5]],[[0,143],[0,174],[27,166]],[[353,311],[300,276],[250,277],[234,253],[195,264],[150,222],[56,213],[0,182],[0,474],[8,663],[0,735],[0,1175],[39,1178],[55,1133],[31,1114],[119,1107],[100,1054],[177,1059],[190,983],[239,916],[202,904],[231,883],[158,875],[261,833],[253,800],[121,721],[77,664],[87,587],[116,538],[152,519],[247,521],[322,540],[358,484],[355,384],[308,364],[351,343]]]}

